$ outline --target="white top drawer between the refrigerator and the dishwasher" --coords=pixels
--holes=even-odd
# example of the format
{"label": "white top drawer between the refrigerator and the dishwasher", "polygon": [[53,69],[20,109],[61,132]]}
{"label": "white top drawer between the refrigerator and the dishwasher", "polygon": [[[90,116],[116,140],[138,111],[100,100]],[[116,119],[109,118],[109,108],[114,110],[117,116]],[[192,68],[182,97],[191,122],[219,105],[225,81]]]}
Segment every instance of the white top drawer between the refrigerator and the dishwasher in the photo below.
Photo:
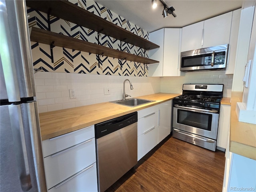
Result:
{"label": "white top drawer between the refrigerator and the dishwasher", "polygon": [[43,140],[42,145],[44,157],[74,146],[93,137],[95,137],[94,125],[58,137]]}

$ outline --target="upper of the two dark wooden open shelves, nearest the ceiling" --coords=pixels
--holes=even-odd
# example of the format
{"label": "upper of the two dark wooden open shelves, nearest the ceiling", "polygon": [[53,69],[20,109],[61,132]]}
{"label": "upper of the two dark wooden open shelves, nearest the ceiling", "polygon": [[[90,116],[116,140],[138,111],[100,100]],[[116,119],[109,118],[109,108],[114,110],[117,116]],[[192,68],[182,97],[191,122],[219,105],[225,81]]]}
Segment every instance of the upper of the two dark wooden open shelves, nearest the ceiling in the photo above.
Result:
{"label": "upper of the two dark wooden open shelves, nearest the ceiling", "polygon": [[66,0],[26,0],[26,5],[146,50],[159,48],[158,45]]}

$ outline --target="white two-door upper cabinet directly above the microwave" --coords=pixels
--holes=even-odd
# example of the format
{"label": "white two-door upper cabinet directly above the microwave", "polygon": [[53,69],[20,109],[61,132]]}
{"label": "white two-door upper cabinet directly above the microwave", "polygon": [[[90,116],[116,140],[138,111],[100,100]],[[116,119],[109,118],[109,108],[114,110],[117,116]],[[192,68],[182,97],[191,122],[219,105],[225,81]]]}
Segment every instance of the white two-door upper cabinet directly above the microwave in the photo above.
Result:
{"label": "white two-door upper cabinet directly above the microwave", "polygon": [[181,52],[228,44],[232,12],[182,28]]}

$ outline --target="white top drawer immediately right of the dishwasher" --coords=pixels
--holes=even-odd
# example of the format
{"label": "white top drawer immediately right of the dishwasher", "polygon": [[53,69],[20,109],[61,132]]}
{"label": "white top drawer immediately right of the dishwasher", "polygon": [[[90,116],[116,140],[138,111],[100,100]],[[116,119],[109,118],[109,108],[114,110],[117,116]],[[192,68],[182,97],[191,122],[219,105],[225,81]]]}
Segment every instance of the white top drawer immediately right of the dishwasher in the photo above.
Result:
{"label": "white top drawer immediately right of the dishwasher", "polygon": [[158,111],[138,119],[138,136],[158,125]]}

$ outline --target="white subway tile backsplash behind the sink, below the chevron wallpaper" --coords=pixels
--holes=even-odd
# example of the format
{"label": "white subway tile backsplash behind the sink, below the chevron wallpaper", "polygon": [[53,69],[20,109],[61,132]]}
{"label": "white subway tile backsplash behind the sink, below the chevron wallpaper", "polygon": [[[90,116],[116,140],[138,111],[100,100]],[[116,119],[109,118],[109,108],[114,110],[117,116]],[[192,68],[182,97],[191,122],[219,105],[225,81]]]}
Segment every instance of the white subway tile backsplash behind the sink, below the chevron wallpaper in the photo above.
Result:
{"label": "white subway tile backsplash behind the sink, below the chevron wallpaper", "polygon": [[[37,72],[35,82],[39,113],[122,99],[125,79],[132,82],[133,90],[126,82],[126,94],[132,97],[160,92],[158,77]],[[110,88],[109,95],[104,95],[104,87]],[[75,99],[69,98],[69,89],[76,90]]]}

